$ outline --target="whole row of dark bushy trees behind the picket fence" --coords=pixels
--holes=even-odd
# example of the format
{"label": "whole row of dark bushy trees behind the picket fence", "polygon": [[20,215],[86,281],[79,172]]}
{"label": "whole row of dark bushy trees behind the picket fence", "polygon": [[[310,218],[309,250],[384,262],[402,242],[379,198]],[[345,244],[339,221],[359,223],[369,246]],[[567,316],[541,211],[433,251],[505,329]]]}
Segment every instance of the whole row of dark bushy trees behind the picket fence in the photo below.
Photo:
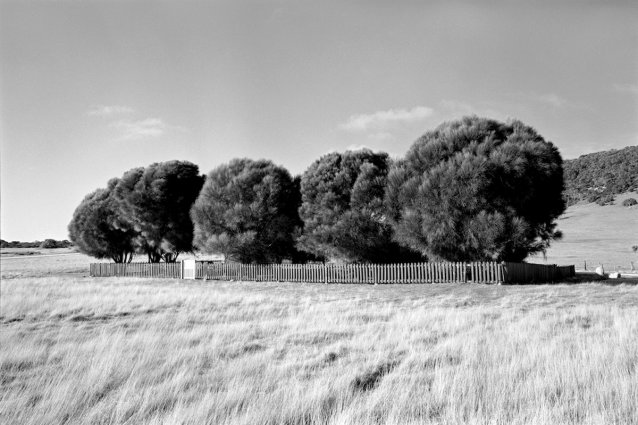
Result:
{"label": "whole row of dark bushy trees behind the picket fence", "polygon": [[175,261],[193,249],[241,262],[521,261],[560,237],[557,149],[519,121],[465,117],[392,161],[330,153],[302,176],[236,159],[136,168],[89,194],[69,225],[98,258]]}

